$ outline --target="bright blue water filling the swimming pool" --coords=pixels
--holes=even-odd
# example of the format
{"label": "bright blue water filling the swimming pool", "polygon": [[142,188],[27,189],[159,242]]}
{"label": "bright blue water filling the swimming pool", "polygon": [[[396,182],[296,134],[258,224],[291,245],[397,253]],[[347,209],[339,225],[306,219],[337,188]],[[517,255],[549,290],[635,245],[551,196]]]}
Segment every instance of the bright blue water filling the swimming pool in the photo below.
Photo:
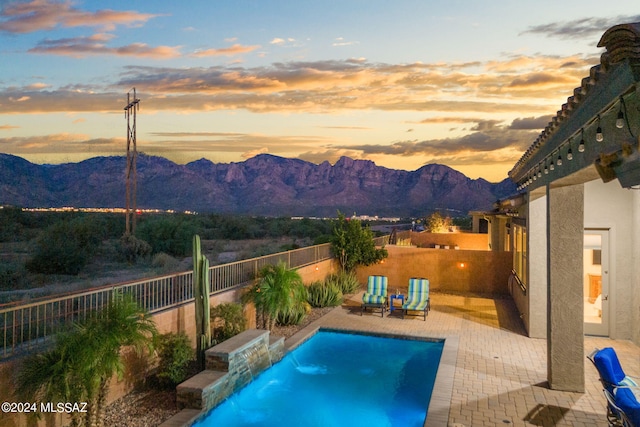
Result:
{"label": "bright blue water filling the swimming pool", "polygon": [[443,346],[320,331],[194,426],[421,427]]}

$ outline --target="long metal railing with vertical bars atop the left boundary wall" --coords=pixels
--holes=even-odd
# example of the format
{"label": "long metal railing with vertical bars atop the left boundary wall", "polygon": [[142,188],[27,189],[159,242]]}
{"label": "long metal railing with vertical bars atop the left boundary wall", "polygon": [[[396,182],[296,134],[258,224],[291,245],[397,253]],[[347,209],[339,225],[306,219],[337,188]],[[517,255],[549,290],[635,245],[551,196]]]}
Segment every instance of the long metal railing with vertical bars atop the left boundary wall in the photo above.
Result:
{"label": "long metal railing with vertical bars atop the left boundary wall", "polygon": [[[209,268],[211,292],[217,293],[254,280],[262,267],[283,261],[299,268],[331,258],[331,245],[323,244],[280,252]],[[193,272],[93,288],[27,304],[0,307],[0,360],[19,351],[37,350],[72,322],[87,319],[106,306],[114,291],[129,293],[150,313],[193,300]]]}

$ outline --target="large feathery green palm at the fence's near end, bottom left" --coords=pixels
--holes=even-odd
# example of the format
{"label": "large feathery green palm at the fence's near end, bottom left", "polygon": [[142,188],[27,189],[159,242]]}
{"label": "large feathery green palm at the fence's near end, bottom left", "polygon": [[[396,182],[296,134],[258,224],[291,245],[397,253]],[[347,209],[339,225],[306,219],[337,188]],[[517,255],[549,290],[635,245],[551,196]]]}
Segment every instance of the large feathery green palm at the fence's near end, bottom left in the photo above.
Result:
{"label": "large feathery green palm at the fence's near end, bottom left", "polygon": [[149,314],[116,292],[94,317],[59,334],[51,350],[25,359],[16,394],[24,401],[87,402],[87,412],[74,412],[71,425],[102,426],[109,381],[124,374],[122,349],[151,350],[155,334]]}

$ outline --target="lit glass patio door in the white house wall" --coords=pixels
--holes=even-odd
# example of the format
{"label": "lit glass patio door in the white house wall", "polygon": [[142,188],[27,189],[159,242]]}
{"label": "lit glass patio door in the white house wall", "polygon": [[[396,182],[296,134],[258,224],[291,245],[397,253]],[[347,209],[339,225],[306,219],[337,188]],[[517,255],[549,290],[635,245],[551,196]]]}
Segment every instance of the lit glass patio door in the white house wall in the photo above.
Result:
{"label": "lit glass patio door in the white house wall", "polygon": [[609,231],[584,231],[584,333],[609,336]]}

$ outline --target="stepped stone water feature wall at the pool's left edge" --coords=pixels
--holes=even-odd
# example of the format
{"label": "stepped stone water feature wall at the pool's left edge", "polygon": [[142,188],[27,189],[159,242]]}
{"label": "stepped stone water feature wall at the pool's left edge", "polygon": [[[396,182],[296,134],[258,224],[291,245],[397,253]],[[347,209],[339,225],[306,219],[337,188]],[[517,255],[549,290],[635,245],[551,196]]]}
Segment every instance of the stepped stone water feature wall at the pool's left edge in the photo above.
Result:
{"label": "stepped stone water feature wall at the pool's left edge", "polygon": [[283,356],[283,337],[259,329],[244,331],[205,352],[206,369],[177,387],[178,408],[206,412]]}

